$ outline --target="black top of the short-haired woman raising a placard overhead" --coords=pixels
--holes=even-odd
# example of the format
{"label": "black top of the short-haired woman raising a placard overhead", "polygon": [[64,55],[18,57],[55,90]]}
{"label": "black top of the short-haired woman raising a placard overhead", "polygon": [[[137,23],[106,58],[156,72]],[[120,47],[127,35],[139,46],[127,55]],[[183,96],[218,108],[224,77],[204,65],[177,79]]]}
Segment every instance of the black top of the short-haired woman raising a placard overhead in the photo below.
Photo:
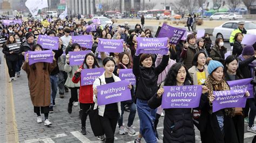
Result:
{"label": "black top of the short-haired woman raising a placard overhead", "polygon": [[[169,55],[164,55],[160,65],[150,68],[140,66],[140,55],[133,56],[132,72],[136,77],[136,92],[135,96],[138,99],[148,101],[158,90],[157,79],[158,75],[164,71],[168,65]],[[153,59],[152,59],[153,60]]]}

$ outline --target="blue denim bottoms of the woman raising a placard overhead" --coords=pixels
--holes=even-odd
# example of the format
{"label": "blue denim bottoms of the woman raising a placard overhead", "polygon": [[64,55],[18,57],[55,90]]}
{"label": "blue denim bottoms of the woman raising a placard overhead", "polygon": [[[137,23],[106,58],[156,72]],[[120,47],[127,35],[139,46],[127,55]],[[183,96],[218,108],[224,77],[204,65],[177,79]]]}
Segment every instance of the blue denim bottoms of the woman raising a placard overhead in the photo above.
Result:
{"label": "blue denim bottoms of the woman raising a placard overhead", "polygon": [[139,116],[139,132],[146,142],[157,142],[156,131],[154,130],[154,120],[157,109],[149,108],[147,101],[137,99],[137,111]]}

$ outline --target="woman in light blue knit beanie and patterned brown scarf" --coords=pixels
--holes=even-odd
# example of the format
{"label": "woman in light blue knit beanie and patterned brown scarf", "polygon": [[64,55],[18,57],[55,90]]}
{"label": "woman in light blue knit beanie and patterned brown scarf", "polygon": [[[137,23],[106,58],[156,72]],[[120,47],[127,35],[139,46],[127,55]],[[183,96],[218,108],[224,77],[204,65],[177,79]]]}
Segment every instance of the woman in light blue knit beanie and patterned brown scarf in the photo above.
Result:
{"label": "woman in light blue knit beanie and patterned brown scarf", "polygon": [[[205,109],[208,109],[208,121],[206,124],[203,138],[206,142],[238,142],[235,126],[232,118],[235,116],[235,108],[225,108],[216,112],[212,112],[212,102],[215,99],[213,91],[230,90],[229,85],[224,80],[224,66],[219,61],[211,60],[208,65],[208,73],[210,76],[206,78],[205,85],[209,89],[208,103]],[[247,91],[245,96],[249,96]],[[210,140],[209,140],[210,139]]]}

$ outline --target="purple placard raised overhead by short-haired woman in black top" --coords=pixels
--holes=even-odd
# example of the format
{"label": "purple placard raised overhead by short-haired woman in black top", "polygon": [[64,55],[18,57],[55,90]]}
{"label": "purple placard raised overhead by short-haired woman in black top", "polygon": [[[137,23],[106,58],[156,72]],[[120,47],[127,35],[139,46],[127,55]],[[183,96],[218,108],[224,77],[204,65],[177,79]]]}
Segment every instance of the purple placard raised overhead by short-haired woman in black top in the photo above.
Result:
{"label": "purple placard raised overhead by short-haired woman in black top", "polygon": [[138,47],[136,54],[149,53],[149,54],[162,54],[168,53],[167,48],[168,38],[142,38],[137,37]]}

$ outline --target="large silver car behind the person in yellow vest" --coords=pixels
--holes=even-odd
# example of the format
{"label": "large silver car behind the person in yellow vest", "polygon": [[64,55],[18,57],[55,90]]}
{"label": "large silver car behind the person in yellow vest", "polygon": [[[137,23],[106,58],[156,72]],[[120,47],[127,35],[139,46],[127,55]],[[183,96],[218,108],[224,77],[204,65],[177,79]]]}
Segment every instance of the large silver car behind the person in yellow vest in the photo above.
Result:
{"label": "large silver car behind the person in yellow vest", "polygon": [[[215,27],[212,35],[216,38],[223,38],[225,40],[230,39],[232,31],[238,28],[239,21],[226,22],[218,27]],[[256,35],[256,24],[250,21],[245,21],[245,29],[247,34]]]}

